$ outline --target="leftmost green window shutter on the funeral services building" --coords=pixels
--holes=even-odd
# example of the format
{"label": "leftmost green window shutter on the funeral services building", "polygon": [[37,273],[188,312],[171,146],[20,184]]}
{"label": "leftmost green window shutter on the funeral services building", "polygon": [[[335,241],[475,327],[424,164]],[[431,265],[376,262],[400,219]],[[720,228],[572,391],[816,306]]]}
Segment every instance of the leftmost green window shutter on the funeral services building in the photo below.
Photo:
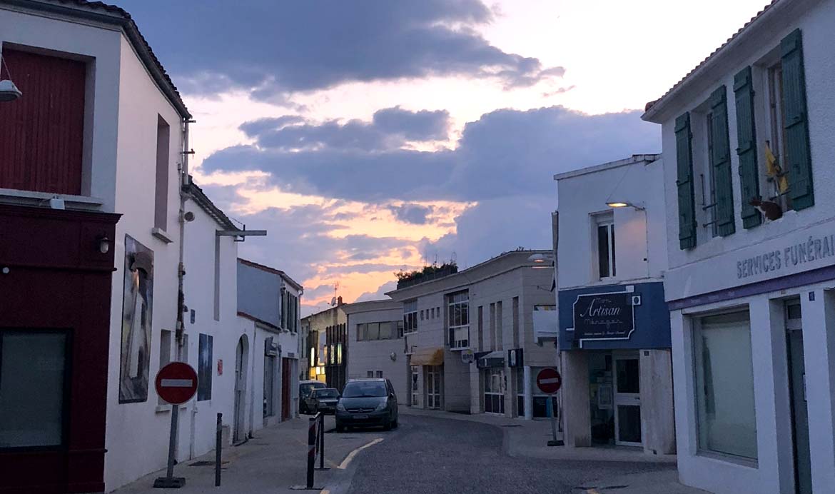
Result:
{"label": "leftmost green window shutter on the funeral services building", "polygon": [[696,247],[696,206],[693,194],[693,147],[690,114],[676,118],[676,171],[679,203],[679,247]]}

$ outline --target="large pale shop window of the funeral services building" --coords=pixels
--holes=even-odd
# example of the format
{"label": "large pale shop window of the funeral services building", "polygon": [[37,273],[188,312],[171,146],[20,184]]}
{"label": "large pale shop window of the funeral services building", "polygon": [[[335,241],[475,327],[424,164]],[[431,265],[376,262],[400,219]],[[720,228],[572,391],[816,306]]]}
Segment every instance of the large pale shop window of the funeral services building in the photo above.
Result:
{"label": "large pale shop window of the funeral services building", "polygon": [[747,312],[708,316],[694,334],[699,448],[757,459],[757,416]]}

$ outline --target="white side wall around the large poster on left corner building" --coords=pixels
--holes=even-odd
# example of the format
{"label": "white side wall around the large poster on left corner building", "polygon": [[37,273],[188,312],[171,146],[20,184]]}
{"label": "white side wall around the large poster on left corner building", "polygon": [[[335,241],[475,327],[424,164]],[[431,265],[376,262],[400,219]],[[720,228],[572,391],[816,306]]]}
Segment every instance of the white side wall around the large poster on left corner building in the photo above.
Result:
{"label": "white side wall around the large poster on left corner building", "polygon": [[[175,330],[177,320],[177,231],[179,190],[177,164],[180,163],[182,137],[180,118],[144,66],[139,63],[126,38],[120,39],[118,151],[115,163],[114,211],[123,216],[116,225],[114,239],[116,271],[113,275],[111,303],[110,358],[108,382],[108,418],[105,440],[104,481],[108,489],[122,486],[165,466],[170,430],[170,412],[157,410],[154,377],[159,370],[160,331]],[[113,43],[109,41],[109,43]],[[98,112],[99,109],[97,108]],[[154,188],[156,185],[157,115],[170,125],[170,176],[168,225],[174,242],[166,243],[151,234],[154,227]],[[105,124],[103,124],[105,125]],[[154,251],[154,304],[150,339],[148,400],[119,405],[119,359],[122,328],[122,293],[124,291],[124,236],[134,237]],[[214,266],[214,262],[210,264]],[[190,352],[196,355],[196,339],[190,339]],[[219,342],[215,348],[220,348]],[[176,351],[172,351],[175,355]],[[234,356],[234,354],[233,354]],[[190,359],[195,362],[196,359]],[[232,360],[234,362],[234,359]],[[188,414],[180,414],[180,430],[190,430]],[[181,438],[183,435],[180,436]],[[188,457],[189,448],[180,441],[178,458]]]}

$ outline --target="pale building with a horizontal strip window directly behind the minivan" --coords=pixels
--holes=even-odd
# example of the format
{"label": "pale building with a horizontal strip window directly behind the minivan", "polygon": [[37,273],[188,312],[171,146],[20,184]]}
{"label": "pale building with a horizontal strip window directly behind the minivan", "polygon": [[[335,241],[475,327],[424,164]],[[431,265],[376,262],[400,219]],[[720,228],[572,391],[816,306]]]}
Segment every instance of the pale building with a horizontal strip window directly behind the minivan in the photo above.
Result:
{"label": "pale building with a horizontal strip window directly behind the minivan", "polygon": [[402,303],[372,300],[342,306],[347,315],[347,379],[383,377],[397,400],[409,399]]}

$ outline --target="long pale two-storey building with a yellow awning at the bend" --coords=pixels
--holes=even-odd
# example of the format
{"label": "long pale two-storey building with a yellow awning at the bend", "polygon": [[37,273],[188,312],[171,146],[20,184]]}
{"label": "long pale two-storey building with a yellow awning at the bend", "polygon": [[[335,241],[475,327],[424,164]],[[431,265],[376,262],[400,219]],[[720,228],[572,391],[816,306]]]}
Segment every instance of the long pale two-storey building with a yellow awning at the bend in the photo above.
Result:
{"label": "long pale two-storey building with a yellow awning at the bend", "polygon": [[537,312],[555,313],[553,261],[552,250],[518,250],[460,272],[400,280],[387,295],[402,310],[407,391],[401,402],[467,414],[547,416],[547,397],[537,393],[534,380],[539,369],[556,363],[554,332],[544,343],[534,320]]}

